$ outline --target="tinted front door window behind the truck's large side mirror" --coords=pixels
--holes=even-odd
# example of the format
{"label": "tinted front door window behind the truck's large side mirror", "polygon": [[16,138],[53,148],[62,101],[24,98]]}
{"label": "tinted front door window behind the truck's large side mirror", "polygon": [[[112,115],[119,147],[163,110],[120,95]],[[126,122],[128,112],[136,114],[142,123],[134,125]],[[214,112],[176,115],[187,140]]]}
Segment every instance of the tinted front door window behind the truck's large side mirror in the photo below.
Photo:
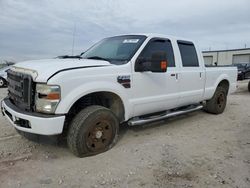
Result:
{"label": "tinted front door window behind the truck's large side mirror", "polygon": [[173,48],[169,40],[154,39],[150,41],[142,51],[140,57],[150,60],[152,54],[158,51],[165,51],[167,53],[168,67],[175,66]]}

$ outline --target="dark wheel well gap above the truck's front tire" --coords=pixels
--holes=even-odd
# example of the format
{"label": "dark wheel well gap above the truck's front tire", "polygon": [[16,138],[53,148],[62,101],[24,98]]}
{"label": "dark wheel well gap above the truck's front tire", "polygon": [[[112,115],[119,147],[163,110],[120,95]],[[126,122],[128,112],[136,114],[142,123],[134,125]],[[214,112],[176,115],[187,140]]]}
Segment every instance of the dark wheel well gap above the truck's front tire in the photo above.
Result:
{"label": "dark wheel well gap above the truck's front tire", "polygon": [[66,122],[70,122],[79,111],[90,105],[100,105],[110,109],[122,122],[125,118],[125,109],[121,98],[112,92],[95,92],[78,99],[70,108]]}

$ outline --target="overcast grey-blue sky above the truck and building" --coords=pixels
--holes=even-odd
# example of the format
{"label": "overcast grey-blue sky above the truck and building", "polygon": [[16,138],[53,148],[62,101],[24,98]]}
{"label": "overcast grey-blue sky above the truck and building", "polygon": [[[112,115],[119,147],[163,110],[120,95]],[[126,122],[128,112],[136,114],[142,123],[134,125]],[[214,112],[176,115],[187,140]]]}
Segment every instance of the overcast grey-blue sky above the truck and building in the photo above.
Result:
{"label": "overcast grey-blue sky above the truck and building", "polygon": [[250,0],[0,0],[0,60],[76,55],[129,33],[181,36],[201,50],[250,47]]}

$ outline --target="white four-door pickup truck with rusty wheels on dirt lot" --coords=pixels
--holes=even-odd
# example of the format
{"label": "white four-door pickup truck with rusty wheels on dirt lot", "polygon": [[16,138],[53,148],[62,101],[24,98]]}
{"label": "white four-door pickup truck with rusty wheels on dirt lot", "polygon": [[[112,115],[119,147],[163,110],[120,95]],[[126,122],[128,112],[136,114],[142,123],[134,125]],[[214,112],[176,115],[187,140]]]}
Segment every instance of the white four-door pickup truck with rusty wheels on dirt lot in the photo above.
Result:
{"label": "white four-door pickup truck with rusty wheels on dirt lot", "polygon": [[224,111],[236,67],[205,67],[190,40],[158,34],[105,38],[80,56],[27,61],[8,71],[1,111],[18,132],[66,133],[79,157],[111,148],[119,125],[204,108]]}

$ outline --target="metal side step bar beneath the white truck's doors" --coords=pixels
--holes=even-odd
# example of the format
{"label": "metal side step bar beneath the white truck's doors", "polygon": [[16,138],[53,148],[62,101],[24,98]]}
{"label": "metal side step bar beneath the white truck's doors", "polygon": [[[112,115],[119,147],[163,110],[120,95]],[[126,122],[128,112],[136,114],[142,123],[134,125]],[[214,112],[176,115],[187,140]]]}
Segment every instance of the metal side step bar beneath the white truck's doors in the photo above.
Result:
{"label": "metal side step bar beneath the white truck's doors", "polygon": [[183,109],[183,110],[178,110],[178,111],[174,111],[171,113],[167,113],[164,115],[159,115],[159,116],[154,116],[154,117],[147,117],[144,119],[140,119],[140,118],[132,118],[131,120],[128,121],[128,125],[129,126],[135,126],[135,125],[142,125],[145,123],[151,123],[154,121],[159,121],[159,120],[163,120],[163,119],[167,119],[173,116],[178,116],[181,114],[186,114],[189,112],[193,112],[193,111],[197,111],[203,108],[203,105],[198,105],[198,106],[194,106],[193,108],[187,108],[187,109]]}

